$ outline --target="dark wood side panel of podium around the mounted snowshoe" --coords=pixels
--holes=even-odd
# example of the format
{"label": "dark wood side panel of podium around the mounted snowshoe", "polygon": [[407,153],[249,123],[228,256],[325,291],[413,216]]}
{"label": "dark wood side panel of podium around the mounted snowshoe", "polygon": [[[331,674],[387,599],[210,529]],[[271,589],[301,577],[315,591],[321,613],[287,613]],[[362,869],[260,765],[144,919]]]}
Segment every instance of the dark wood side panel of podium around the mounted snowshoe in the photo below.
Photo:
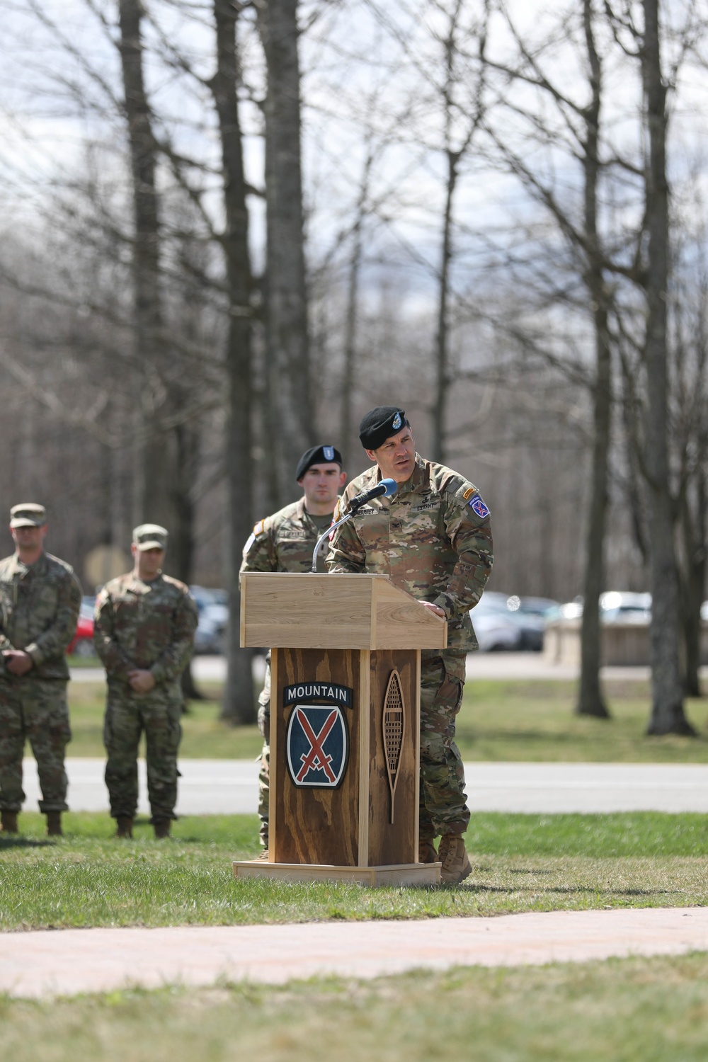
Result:
{"label": "dark wood side panel of podium around the mounted snowshoe", "polygon": [[[419,653],[415,649],[377,649],[369,661],[368,866],[411,863],[418,858]],[[391,674],[400,678],[403,734],[393,800],[386,770],[384,702]],[[391,700],[391,698],[390,698]],[[394,732],[395,737],[395,732]],[[390,735],[390,746],[391,746]],[[394,750],[398,742],[394,741]]]}

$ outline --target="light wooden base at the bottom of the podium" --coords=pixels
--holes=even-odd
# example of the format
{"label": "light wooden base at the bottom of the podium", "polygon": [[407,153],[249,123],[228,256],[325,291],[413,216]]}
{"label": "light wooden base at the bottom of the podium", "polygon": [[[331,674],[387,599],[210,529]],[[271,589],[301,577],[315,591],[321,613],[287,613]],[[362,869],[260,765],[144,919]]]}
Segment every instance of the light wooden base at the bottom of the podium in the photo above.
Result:
{"label": "light wooden base at the bottom of the podium", "polygon": [[234,877],[267,877],[273,881],[347,881],[370,887],[439,885],[442,866],[435,862],[398,863],[392,867],[328,867],[247,859],[234,862]]}

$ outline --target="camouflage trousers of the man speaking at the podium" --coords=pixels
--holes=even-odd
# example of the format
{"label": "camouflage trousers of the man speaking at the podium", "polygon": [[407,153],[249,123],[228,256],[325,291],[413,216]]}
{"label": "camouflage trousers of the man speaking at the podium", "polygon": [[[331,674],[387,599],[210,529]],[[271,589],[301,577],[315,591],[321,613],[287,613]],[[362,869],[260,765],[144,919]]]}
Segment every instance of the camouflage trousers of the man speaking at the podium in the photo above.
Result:
{"label": "camouflage trousers of the man speaking at the podium", "polygon": [[420,837],[464,834],[469,823],[465,771],[454,721],[465,685],[464,650],[420,653]]}

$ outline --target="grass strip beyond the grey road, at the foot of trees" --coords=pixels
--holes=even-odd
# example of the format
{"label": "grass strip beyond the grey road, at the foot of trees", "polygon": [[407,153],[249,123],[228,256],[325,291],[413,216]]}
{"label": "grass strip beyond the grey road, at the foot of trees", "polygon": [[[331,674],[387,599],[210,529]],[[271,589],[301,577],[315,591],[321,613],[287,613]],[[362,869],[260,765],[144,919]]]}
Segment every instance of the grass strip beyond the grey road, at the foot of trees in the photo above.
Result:
{"label": "grass strip beyond the grey road, at the foot of trees", "polygon": [[[195,701],[183,720],[180,754],[196,758],[252,759],[261,738],[256,726],[219,721],[215,685],[204,685],[208,701]],[[607,684],[612,719],[573,715],[572,682],[476,681],[465,687],[457,717],[457,744],[466,760],[570,760],[597,763],[708,763],[708,702],[687,701],[697,738],[646,737],[650,712],[646,682]],[[102,756],[105,687],[69,686],[73,741],[71,756]]]}

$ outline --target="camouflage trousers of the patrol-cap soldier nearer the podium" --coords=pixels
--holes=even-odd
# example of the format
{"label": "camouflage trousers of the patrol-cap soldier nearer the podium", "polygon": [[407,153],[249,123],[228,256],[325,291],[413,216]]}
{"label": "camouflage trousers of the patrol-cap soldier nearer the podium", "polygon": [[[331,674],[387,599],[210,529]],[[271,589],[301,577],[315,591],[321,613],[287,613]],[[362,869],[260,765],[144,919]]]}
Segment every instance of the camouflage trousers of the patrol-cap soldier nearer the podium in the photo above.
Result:
{"label": "camouflage trousers of the patrol-cap soldier nearer the podium", "polygon": [[149,693],[135,693],[122,685],[108,686],[103,743],[108,754],[105,780],[114,819],[135,817],[138,744],[143,732],[151,821],[176,818],[183,703],[178,683],[158,686]]}

